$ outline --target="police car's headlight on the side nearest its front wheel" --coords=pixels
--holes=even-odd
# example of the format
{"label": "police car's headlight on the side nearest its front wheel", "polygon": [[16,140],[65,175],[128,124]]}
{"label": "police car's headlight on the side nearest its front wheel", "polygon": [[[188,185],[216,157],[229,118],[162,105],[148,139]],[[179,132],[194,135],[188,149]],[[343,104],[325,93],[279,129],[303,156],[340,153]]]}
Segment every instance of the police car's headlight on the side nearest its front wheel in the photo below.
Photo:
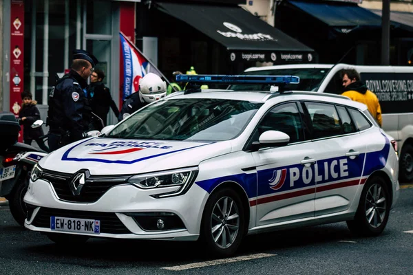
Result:
{"label": "police car's headlight on the side nearest its front wheel", "polygon": [[192,167],[162,171],[157,173],[134,175],[132,177],[129,177],[127,181],[130,184],[134,184],[138,188],[142,189],[180,186],[178,190],[173,192],[152,195],[152,197],[160,198],[184,194],[193,184],[196,175],[198,175],[198,167]]}

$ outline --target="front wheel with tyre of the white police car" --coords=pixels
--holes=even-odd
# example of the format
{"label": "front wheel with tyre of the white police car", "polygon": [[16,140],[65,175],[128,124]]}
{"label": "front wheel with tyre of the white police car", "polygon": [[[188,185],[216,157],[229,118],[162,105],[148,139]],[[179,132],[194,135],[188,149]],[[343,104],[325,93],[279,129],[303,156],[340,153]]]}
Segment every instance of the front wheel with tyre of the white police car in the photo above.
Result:
{"label": "front wheel with tyre of the white police car", "polygon": [[214,256],[230,256],[245,232],[245,210],[240,196],[230,188],[213,192],[202,215],[200,241]]}

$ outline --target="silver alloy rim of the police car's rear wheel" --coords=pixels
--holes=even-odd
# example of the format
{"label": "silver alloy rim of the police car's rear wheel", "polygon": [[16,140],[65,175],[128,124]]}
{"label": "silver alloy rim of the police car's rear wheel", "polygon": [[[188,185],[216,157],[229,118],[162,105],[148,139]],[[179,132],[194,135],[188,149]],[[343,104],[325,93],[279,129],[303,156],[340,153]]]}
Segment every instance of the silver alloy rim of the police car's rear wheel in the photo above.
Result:
{"label": "silver alloy rim of the police car's rear wheel", "polygon": [[378,228],[385,218],[387,202],[380,184],[373,184],[367,191],[364,210],[368,223],[373,228]]}

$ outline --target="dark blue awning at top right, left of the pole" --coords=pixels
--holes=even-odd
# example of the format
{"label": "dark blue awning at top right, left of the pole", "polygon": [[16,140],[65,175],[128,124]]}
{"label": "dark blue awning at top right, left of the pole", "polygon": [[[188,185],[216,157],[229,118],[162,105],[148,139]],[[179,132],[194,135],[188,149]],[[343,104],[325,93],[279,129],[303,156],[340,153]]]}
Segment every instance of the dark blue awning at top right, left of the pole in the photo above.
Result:
{"label": "dark blue awning at top right, left of the pole", "polygon": [[337,32],[348,33],[355,28],[381,28],[381,17],[368,9],[359,7],[357,3],[293,0],[288,2],[335,28]]}

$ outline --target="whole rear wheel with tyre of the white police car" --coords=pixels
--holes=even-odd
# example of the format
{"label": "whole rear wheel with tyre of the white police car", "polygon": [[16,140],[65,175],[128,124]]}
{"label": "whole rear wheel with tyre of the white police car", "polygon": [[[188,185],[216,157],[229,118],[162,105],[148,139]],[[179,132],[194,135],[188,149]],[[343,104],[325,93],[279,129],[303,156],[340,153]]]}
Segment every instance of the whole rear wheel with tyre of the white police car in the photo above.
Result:
{"label": "whole rear wheel with tyre of the white police car", "polygon": [[347,221],[352,234],[377,236],[383,232],[390,213],[390,195],[384,179],[368,179],[361,193],[354,220]]}

